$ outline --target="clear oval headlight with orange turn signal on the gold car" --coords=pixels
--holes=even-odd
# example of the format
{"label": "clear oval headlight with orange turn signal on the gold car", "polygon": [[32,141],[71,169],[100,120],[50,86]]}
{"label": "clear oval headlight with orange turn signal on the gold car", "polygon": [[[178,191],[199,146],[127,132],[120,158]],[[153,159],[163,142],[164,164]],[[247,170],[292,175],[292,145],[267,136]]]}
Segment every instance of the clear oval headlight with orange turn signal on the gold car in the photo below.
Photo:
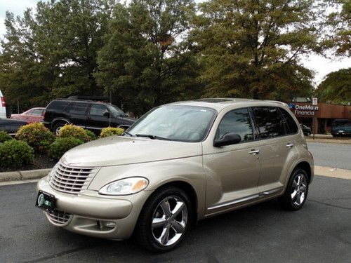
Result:
{"label": "clear oval headlight with orange turn signal on the gold car", "polygon": [[149,181],[144,177],[129,177],[110,184],[106,184],[99,191],[99,194],[107,194],[110,196],[123,196],[127,194],[135,194],[144,190]]}

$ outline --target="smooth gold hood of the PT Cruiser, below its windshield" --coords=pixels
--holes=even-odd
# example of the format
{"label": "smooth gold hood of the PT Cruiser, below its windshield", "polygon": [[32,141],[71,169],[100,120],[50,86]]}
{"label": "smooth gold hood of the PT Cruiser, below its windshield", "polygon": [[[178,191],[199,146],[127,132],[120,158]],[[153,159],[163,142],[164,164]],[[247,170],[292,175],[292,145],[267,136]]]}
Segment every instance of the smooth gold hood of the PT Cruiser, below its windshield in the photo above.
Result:
{"label": "smooth gold hood of the PT Cruiser, below its windshield", "polygon": [[111,136],[67,151],[61,161],[70,166],[119,166],[201,154],[201,142],[172,142],[145,137]]}

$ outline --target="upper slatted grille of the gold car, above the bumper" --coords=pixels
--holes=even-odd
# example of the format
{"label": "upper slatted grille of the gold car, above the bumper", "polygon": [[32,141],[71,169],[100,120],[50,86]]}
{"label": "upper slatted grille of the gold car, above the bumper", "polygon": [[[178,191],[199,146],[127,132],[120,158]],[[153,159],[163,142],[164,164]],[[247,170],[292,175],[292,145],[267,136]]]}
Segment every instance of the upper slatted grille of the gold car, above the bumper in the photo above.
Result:
{"label": "upper slatted grille of the gold car, above the bumper", "polygon": [[96,173],[96,168],[66,166],[58,163],[53,168],[49,184],[57,191],[79,194],[88,187]]}

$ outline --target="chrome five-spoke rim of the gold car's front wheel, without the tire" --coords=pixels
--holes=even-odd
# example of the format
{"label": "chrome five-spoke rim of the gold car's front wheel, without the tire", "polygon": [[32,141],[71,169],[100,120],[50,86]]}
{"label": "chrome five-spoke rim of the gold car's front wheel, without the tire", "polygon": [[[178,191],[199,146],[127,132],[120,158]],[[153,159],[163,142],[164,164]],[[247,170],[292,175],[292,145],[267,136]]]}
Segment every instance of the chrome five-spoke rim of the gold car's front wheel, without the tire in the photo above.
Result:
{"label": "chrome five-spoke rim of the gold car's front wheel, without the tire", "polygon": [[183,236],[187,220],[185,201],[179,196],[168,196],[154,210],[152,236],[160,245],[173,245]]}

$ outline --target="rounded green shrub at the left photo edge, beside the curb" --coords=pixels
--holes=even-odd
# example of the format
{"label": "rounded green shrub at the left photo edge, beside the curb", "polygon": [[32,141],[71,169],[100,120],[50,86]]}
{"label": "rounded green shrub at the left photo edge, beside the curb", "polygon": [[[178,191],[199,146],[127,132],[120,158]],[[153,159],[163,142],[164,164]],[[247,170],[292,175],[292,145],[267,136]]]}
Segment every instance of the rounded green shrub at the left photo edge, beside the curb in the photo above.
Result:
{"label": "rounded green shrub at the left photo edge, beside the curb", "polygon": [[8,140],[0,144],[0,163],[4,167],[21,167],[33,163],[34,149],[27,142]]}

